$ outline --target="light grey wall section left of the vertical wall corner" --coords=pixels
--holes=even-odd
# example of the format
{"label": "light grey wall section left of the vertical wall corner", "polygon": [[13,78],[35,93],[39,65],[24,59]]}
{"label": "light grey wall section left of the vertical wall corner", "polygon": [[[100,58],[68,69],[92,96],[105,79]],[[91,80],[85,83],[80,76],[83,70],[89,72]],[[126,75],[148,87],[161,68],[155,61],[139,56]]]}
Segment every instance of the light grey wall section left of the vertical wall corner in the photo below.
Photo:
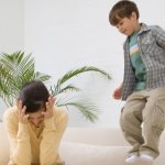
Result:
{"label": "light grey wall section left of the vertical wall corner", "polygon": [[[22,0],[0,0],[0,53],[24,47],[24,7]],[[6,109],[0,99],[0,119]]]}

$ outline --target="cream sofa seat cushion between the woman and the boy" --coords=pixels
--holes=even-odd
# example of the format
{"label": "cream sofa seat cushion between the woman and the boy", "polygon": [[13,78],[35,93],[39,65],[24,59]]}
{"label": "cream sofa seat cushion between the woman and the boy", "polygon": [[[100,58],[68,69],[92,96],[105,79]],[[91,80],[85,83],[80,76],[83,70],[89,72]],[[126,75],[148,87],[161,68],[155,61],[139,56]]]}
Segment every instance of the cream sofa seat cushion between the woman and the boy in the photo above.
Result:
{"label": "cream sofa seat cushion between the woman and the boy", "polygon": [[61,156],[66,165],[125,165],[124,156],[130,146],[91,145],[63,142]]}

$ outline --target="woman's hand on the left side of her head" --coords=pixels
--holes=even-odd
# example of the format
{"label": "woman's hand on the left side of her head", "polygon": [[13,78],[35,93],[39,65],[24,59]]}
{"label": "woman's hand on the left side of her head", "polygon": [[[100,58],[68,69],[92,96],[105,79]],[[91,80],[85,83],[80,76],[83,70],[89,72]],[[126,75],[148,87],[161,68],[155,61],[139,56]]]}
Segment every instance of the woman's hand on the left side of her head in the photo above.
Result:
{"label": "woman's hand on the left side of her head", "polygon": [[26,107],[22,107],[22,100],[16,100],[18,113],[19,113],[19,122],[28,123],[29,122],[29,114],[25,114]]}

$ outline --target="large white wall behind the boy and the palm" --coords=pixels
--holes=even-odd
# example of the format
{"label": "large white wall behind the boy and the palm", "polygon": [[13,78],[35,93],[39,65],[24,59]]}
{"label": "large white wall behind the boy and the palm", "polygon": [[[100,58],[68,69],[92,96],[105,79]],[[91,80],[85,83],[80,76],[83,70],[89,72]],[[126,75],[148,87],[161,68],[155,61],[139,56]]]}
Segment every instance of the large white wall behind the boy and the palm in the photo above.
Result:
{"label": "large white wall behind the boy and the palm", "polygon": [[[122,80],[124,36],[110,26],[108,21],[109,10],[117,0],[24,0],[24,22],[23,14],[12,13],[16,21],[9,22],[15,23],[19,28],[14,29],[15,31],[12,29],[11,32],[10,26],[7,26],[8,35],[0,31],[2,38],[7,38],[1,50],[16,50],[18,45],[24,44],[26,53],[35,56],[36,69],[53,75],[55,80],[67,70],[84,65],[97,66],[109,72],[112,75],[109,82],[94,74],[85,74],[73,80],[84,89],[82,96],[96,100],[101,111],[100,119],[91,124],[82,120],[77,110],[70,109],[69,125],[119,127],[120,108],[123,102],[113,100],[111,94]],[[165,29],[163,0],[135,0],[135,2],[140,8],[141,21],[160,24]],[[18,9],[16,13],[20,10],[22,13],[22,3],[21,0],[14,2],[4,0],[2,4],[6,4],[6,9],[10,7],[10,10],[2,20],[11,19],[11,11],[14,8]],[[3,8],[2,10],[6,11]],[[19,31],[21,33],[18,33]],[[16,42],[13,42],[15,36]],[[24,42],[19,40],[23,37]],[[8,43],[9,38],[12,44]]]}

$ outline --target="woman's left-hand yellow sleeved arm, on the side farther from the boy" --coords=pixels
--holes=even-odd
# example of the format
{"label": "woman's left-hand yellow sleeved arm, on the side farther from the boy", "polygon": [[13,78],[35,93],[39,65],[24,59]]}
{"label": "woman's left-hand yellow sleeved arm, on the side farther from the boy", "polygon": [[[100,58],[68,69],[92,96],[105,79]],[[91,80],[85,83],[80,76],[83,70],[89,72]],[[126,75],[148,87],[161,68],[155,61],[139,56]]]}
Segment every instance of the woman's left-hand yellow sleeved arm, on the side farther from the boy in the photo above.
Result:
{"label": "woman's left-hand yellow sleeved arm, on the side farther from the boy", "polygon": [[4,125],[10,142],[10,161],[16,165],[31,165],[31,145],[28,124],[15,123],[15,116],[4,114]]}

